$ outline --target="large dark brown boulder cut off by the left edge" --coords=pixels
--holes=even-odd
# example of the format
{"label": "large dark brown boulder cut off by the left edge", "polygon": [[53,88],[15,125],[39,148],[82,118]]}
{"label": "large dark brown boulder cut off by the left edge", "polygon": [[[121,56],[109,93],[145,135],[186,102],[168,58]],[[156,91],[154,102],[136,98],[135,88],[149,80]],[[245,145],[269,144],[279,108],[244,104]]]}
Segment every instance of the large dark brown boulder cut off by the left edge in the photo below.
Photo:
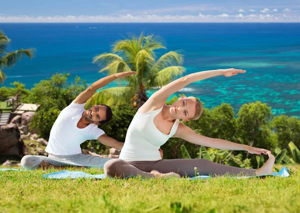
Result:
{"label": "large dark brown boulder cut off by the left edge", "polygon": [[14,123],[0,126],[0,152],[15,146],[20,139],[20,131]]}

